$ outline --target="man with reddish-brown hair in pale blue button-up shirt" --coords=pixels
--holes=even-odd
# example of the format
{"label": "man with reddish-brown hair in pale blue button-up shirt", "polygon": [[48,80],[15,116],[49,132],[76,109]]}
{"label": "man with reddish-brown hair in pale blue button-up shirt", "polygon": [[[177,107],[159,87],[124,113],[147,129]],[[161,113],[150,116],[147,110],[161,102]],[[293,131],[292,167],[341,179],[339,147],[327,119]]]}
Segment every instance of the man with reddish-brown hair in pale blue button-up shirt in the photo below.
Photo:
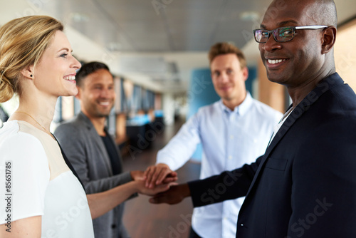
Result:
{"label": "man with reddish-brown hair in pale blue button-up shirt", "polygon": [[[187,162],[201,143],[200,179],[241,167],[263,155],[282,114],[251,97],[246,90],[248,68],[244,54],[230,43],[216,43],[209,51],[211,79],[221,100],[199,109],[177,135],[157,153],[148,167],[147,187],[162,182]],[[236,237],[237,214],[244,197],[198,207],[190,237]]]}

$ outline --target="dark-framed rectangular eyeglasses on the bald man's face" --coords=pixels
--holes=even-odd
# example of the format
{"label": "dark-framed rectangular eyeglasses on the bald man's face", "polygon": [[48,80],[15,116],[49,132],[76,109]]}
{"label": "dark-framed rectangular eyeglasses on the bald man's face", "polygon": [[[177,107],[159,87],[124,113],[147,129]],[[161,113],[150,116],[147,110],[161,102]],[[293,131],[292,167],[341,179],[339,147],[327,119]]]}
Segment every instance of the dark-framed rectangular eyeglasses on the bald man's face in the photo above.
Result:
{"label": "dark-framed rectangular eyeglasses on the bald man's face", "polygon": [[271,31],[264,30],[264,29],[256,29],[253,30],[253,35],[255,36],[255,41],[258,43],[266,43],[268,38],[273,33],[273,38],[277,42],[287,42],[291,41],[294,38],[295,30],[316,30],[316,29],[324,29],[328,28],[328,26],[284,26],[278,27]]}

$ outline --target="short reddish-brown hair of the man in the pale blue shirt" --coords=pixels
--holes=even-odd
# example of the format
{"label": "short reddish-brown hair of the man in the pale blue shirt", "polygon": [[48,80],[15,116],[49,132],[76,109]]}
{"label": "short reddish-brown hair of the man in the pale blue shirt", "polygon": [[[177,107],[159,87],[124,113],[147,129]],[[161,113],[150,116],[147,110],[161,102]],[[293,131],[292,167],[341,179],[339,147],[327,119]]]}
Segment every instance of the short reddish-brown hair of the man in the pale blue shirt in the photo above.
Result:
{"label": "short reddish-brown hair of the man in the pale blue shirt", "polygon": [[237,58],[239,58],[241,68],[246,67],[247,64],[244,53],[242,53],[242,51],[233,44],[227,42],[219,42],[214,44],[214,46],[211,46],[209,51],[209,62],[211,63],[216,56],[221,56],[228,53],[236,54]]}

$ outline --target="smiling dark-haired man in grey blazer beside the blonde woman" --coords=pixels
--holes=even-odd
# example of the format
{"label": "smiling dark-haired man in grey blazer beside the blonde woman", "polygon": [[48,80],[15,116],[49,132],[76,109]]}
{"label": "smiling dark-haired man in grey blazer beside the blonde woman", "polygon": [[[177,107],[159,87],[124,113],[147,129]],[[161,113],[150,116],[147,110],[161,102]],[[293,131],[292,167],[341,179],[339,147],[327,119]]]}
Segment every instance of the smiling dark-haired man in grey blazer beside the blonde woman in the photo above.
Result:
{"label": "smiling dark-haired man in grey blazer beside the blonde woman", "polygon": [[[104,63],[86,63],[75,77],[81,111],[59,125],[55,135],[83,182],[87,194],[103,192],[142,178],[141,171],[122,172],[120,152],[105,128],[114,105],[114,81]],[[95,237],[129,237],[122,224],[123,204],[93,220]]]}

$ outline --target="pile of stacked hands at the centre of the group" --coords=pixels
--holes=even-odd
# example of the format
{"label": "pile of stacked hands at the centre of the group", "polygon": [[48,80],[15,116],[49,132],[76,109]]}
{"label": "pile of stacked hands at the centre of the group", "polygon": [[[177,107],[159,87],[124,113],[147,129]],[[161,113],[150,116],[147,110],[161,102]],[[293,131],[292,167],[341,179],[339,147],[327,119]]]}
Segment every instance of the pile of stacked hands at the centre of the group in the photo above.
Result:
{"label": "pile of stacked hands at the centre of the group", "polygon": [[132,171],[131,176],[137,192],[152,196],[149,201],[154,204],[177,204],[190,195],[187,184],[177,185],[177,172],[165,164],[152,165],[145,172]]}

